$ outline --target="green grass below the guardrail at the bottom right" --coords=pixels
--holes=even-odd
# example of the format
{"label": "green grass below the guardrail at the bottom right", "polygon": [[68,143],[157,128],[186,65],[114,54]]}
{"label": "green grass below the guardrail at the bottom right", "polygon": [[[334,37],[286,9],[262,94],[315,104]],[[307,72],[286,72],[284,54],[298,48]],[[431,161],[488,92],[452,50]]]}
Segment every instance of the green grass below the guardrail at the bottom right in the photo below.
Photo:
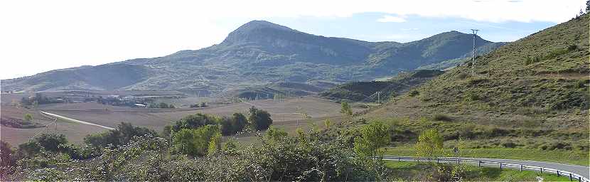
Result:
{"label": "green grass below the guardrail at the bottom right", "polygon": [[[431,166],[411,161],[385,161],[385,166],[392,170],[392,178],[396,181],[421,181],[429,175]],[[541,176],[544,181],[569,181],[569,178],[550,173],[535,171],[518,171],[490,167],[466,166],[466,181],[537,181]]]}

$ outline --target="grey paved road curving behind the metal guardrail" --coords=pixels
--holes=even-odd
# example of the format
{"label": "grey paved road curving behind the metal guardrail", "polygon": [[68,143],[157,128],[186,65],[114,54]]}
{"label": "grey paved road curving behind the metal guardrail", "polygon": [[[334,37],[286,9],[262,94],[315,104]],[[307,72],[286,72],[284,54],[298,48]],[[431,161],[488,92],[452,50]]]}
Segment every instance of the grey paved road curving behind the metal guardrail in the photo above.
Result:
{"label": "grey paved road curving behind the metal guardrail", "polygon": [[[527,166],[539,166],[544,168],[554,168],[561,171],[569,171],[572,173],[577,173],[585,178],[590,178],[590,167],[589,166],[578,166],[572,164],[559,164],[554,162],[545,162],[545,161],[525,161],[525,160],[517,160],[517,159],[489,159],[489,158],[470,158],[470,157],[461,157],[461,159],[472,159],[472,160],[483,160],[483,161],[495,161],[495,162],[502,162],[502,163],[510,163],[510,164],[522,164]],[[397,159],[385,159],[390,161],[397,161]],[[414,161],[414,159],[402,159],[402,161]],[[443,162],[443,161],[441,161]],[[444,162],[453,162],[456,161],[444,161]],[[475,163],[467,163],[467,164],[474,164]],[[482,166],[495,166],[498,165],[486,165],[483,164]],[[509,167],[510,168],[510,167]]]}

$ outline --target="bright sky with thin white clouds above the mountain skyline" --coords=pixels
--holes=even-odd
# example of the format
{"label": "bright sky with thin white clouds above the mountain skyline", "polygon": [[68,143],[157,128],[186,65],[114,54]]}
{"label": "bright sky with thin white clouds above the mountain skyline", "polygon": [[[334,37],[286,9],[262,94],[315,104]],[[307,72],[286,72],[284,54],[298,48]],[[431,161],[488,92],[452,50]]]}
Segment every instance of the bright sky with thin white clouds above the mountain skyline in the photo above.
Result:
{"label": "bright sky with thin white clouds above the mountain skyline", "polygon": [[363,41],[405,43],[471,28],[488,41],[516,41],[568,21],[585,2],[6,0],[0,1],[0,79],[205,48],[252,20]]}

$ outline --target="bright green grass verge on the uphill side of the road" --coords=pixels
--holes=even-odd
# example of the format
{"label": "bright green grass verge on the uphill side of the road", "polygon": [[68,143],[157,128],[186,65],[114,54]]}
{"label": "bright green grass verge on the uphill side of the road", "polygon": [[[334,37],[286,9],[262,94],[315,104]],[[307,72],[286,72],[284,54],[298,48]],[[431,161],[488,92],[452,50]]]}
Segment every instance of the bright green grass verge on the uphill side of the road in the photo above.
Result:
{"label": "bright green grass verge on the uphill side of the road", "polygon": [[[450,152],[450,151],[449,151]],[[386,155],[413,156],[416,150],[408,147],[388,148]],[[463,149],[461,156],[483,157],[498,159],[521,159],[531,161],[549,161],[565,164],[589,165],[589,154],[579,154],[574,151],[542,151],[535,149]]]}

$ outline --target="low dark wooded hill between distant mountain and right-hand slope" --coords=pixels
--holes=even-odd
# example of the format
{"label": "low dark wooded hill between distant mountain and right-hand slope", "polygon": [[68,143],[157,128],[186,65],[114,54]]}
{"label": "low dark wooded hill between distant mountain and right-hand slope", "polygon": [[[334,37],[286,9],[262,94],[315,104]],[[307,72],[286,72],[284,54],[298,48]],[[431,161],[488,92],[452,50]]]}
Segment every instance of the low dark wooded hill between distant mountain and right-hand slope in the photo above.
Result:
{"label": "low dark wooded hill between distant mountain and right-hand slope", "polygon": [[[330,100],[350,100],[373,102],[381,101],[402,95],[413,87],[416,87],[432,78],[441,75],[439,70],[417,70],[411,73],[399,73],[387,81],[372,82],[348,82],[321,92],[320,96]],[[382,92],[377,98],[375,92]]]}

